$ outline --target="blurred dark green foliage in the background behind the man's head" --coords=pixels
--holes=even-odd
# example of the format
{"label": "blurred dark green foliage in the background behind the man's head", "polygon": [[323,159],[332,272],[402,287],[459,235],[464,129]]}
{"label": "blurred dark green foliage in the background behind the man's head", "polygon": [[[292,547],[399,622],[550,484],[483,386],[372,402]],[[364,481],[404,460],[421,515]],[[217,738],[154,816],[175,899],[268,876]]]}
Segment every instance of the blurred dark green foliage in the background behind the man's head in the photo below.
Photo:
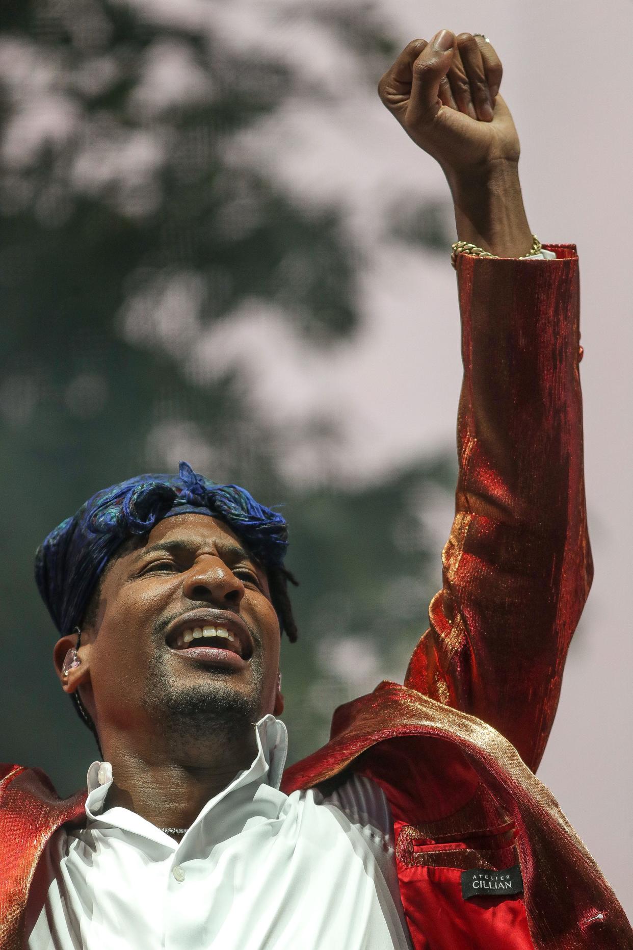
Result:
{"label": "blurred dark green foliage in the background behind the man's head", "polygon": [[[341,209],[315,211],[227,161],[290,93],[327,94],[266,42],[257,57],[225,42],[219,25],[247,30],[246,6],[200,18],[188,3],[37,0],[0,13],[0,756],[44,768],[63,794],[84,785],[96,747],[53,675],[32,561],[99,488],[183,458],[284,505],[301,582],[299,642],[282,655],[290,762],[326,741],[339,703],[401,681],[437,587],[425,504],[452,492],[453,454],[420,445],[374,484],[296,484],[284,456],[296,440],[344,451],[336,419],[253,414],[248,378],[214,347],[244,301],[285,314],[306,352],[363,329],[363,247]],[[279,15],[353,50],[372,90],[400,52],[363,4]],[[431,254],[454,239],[432,204],[394,213],[393,232]]]}

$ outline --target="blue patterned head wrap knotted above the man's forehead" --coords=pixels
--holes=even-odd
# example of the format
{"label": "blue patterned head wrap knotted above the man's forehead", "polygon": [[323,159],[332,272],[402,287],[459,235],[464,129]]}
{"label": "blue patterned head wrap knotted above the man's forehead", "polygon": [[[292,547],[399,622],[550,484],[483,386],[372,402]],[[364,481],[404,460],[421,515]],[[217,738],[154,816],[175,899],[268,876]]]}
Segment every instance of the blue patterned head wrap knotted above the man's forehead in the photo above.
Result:
{"label": "blue patterned head wrap knotted above the man's forehead", "polygon": [[177,476],[139,475],[103,488],[40,544],[35,580],[60,633],[81,624],[97,581],[122,542],[187,512],[221,519],[266,569],[283,568],[285,519],[258,504],[246,488],[217,485],[181,462]]}

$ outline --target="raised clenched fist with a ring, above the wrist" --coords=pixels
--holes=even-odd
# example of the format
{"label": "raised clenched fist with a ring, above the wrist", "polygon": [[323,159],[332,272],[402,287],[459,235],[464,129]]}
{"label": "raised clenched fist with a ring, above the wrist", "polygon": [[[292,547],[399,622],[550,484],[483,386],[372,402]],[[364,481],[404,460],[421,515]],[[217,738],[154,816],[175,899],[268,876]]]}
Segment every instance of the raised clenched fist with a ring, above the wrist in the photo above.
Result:
{"label": "raised clenched fist with a ring, above the wrist", "polygon": [[483,37],[443,29],[431,42],[409,43],[382,76],[378,92],[447,177],[468,177],[497,161],[519,160],[512,115],[498,95],[502,74]]}

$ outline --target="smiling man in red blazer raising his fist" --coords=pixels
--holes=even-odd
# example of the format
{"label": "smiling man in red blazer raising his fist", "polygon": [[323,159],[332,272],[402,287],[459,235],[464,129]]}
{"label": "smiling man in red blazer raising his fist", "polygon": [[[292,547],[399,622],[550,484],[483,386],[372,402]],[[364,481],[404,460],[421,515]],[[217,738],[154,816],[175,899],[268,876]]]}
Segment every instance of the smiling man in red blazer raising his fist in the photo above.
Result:
{"label": "smiling man in red blazer raising his fist", "polygon": [[578,257],[533,241],[501,73],[484,37],[442,30],[379,85],[471,252],[456,519],[404,686],[338,709],[283,772],[284,520],[186,464],[98,492],[36,574],[101,761],[67,800],[2,767],[3,950],[633,947],[532,771],[592,565]]}

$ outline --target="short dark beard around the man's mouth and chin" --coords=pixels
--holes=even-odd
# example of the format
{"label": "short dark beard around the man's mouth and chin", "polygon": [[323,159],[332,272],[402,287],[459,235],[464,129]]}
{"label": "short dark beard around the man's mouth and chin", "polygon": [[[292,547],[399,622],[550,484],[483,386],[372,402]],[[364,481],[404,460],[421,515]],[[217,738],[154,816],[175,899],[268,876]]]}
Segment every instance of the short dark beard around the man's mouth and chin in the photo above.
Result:
{"label": "short dark beard around the man's mouth and chin", "polygon": [[198,758],[210,746],[227,750],[242,748],[252,736],[260,718],[264,687],[261,651],[251,656],[251,690],[243,693],[233,687],[231,670],[206,668],[208,679],[202,683],[180,684],[167,670],[166,654],[157,645],[150,663],[141,704],[167,740],[168,747]]}

